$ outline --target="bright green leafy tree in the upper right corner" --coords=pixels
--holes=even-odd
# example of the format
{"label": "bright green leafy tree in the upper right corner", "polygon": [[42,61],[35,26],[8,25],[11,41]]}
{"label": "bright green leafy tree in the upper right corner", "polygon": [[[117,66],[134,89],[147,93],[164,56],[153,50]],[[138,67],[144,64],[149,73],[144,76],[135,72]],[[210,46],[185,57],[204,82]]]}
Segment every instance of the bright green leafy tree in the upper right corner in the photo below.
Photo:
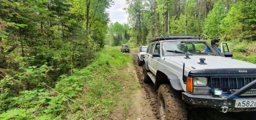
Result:
{"label": "bright green leafy tree in the upper right corner", "polygon": [[230,8],[230,11],[222,21],[222,30],[227,39],[243,39],[254,41],[256,38],[256,2],[239,1]]}

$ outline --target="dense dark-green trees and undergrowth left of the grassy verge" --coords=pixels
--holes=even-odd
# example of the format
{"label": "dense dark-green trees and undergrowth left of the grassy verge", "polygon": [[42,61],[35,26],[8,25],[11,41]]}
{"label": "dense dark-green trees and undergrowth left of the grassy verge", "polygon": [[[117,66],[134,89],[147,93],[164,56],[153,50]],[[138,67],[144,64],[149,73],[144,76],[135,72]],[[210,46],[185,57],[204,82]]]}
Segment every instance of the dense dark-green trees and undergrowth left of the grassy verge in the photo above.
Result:
{"label": "dense dark-green trees and undergrowth left of the grassy verge", "polygon": [[0,119],[63,119],[65,106],[79,108],[67,99],[77,97],[84,84],[70,76],[104,47],[111,5],[112,0],[0,0]]}

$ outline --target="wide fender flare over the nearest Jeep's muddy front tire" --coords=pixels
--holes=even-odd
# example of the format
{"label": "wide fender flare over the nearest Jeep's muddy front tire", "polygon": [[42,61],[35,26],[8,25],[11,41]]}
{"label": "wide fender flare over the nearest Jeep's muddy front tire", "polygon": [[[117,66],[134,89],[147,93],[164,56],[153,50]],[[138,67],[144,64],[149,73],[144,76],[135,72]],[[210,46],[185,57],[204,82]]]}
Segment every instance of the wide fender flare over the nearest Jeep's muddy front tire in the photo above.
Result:
{"label": "wide fender flare over the nearest Jeep's muddy front tire", "polygon": [[167,69],[157,70],[154,90],[157,91],[160,85],[167,83],[171,84],[171,87],[174,88],[174,90],[183,91],[181,81],[176,74]]}

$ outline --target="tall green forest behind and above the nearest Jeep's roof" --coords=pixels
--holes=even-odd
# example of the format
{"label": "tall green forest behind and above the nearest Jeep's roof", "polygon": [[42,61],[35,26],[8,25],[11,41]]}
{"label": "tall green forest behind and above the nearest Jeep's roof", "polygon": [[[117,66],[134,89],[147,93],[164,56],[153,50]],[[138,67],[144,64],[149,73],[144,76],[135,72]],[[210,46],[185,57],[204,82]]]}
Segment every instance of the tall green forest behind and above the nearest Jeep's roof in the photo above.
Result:
{"label": "tall green forest behind and above the nearest Jeep's roof", "polygon": [[126,0],[126,3],[136,44],[160,34],[202,34],[206,38],[239,42],[256,40],[255,0]]}

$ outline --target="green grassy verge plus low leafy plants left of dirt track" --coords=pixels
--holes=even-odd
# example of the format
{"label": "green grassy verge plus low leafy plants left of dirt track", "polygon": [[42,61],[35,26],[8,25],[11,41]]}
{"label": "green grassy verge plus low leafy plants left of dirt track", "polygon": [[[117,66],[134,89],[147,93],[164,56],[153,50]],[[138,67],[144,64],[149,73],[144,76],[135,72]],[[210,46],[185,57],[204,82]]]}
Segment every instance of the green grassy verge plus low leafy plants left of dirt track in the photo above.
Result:
{"label": "green grassy verge plus low leafy plants left of dirt track", "polygon": [[[133,67],[132,59],[128,53],[105,46],[97,52],[91,65],[73,69],[72,75],[62,75],[54,90],[45,86],[44,89],[25,90],[17,97],[2,99],[9,90],[5,89],[0,100],[5,108],[0,108],[0,111],[6,111],[1,111],[0,119],[108,119],[114,108],[132,94],[132,90],[138,89],[134,83],[135,74],[128,71],[128,65]],[[6,76],[2,79],[0,85],[5,84],[12,85],[12,78]],[[127,110],[128,102],[123,107]]]}

